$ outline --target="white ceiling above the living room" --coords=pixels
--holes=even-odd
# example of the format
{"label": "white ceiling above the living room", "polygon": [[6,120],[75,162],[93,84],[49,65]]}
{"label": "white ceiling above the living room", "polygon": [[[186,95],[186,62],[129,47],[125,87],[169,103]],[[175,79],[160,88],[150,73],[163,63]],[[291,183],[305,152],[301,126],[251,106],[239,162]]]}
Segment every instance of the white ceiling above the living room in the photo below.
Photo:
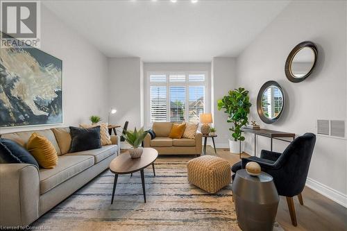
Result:
{"label": "white ceiling above the living room", "polygon": [[45,1],[108,57],[210,62],[236,57],[289,1]]}

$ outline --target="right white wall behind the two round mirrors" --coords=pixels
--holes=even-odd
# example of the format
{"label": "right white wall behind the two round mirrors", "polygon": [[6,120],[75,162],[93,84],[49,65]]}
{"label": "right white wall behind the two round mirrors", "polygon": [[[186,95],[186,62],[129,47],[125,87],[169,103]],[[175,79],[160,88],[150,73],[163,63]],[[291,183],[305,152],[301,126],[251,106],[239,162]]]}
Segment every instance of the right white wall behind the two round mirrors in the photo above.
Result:
{"label": "right white wall behind the two round mirrors", "polygon": [[[237,85],[250,90],[251,119],[263,128],[295,132],[316,132],[317,119],[347,118],[346,1],[292,1],[285,10],[237,58]],[[310,40],[319,46],[314,73],[301,83],[285,76],[285,60],[296,44]],[[271,125],[260,121],[257,93],[267,80],[285,89],[287,105],[282,117]],[[257,150],[269,149],[269,139],[257,139]],[[253,136],[246,151],[253,154]],[[274,151],[287,143],[274,142]],[[307,185],[346,203],[346,139],[317,136]]]}

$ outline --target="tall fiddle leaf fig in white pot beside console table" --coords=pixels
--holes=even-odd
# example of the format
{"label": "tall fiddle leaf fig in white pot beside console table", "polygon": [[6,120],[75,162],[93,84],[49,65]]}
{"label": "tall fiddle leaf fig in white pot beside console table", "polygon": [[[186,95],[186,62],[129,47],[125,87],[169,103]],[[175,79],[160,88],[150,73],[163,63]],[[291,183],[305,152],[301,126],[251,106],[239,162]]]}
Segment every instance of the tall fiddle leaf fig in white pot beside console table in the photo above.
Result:
{"label": "tall fiddle leaf fig in white pot beside console table", "polygon": [[243,87],[239,89],[230,90],[228,95],[223,96],[218,101],[218,110],[224,109],[224,112],[228,114],[228,123],[232,123],[231,137],[229,139],[230,153],[241,153],[239,141],[244,141],[241,128],[248,124],[248,114],[251,108],[249,102],[248,91]]}

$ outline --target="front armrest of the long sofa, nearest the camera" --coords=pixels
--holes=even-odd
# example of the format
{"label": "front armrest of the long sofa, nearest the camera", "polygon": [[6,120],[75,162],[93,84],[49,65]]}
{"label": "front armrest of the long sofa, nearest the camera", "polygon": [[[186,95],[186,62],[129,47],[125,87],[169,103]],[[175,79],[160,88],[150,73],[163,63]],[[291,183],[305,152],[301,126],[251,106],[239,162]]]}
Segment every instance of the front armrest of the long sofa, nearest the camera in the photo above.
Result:
{"label": "front armrest of the long sofa, nearest the camera", "polygon": [[26,226],[40,216],[40,174],[32,164],[0,164],[0,224]]}

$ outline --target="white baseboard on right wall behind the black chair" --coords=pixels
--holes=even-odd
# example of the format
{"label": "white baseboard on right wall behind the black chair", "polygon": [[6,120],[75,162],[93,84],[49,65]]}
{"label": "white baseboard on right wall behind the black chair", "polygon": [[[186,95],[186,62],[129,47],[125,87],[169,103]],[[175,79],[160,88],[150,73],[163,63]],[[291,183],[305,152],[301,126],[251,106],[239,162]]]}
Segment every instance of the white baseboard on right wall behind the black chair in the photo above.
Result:
{"label": "white baseboard on right wall behind the black chair", "polygon": [[336,203],[339,203],[340,205],[347,207],[346,194],[342,194],[341,192],[332,189],[326,185],[323,185],[322,183],[316,180],[312,180],[311,178],[307,178],[306,186],[318,192],[319,194],[322,194],[323,196],[326,196],[327,198],[334,200]]}

